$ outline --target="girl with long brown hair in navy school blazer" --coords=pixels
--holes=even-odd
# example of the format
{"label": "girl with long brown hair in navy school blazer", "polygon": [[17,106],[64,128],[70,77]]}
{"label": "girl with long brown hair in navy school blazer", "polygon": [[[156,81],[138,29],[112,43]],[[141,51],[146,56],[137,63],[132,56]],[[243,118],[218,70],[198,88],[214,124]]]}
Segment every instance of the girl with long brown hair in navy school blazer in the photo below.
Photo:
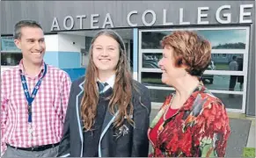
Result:
{"label": "girl with long brown hair in navy school blazer", "polygon": [[98,32],[86,75],[71,86],[59,156],[147,156],[149,122],[150,93],[132,79],[123,40]]}

